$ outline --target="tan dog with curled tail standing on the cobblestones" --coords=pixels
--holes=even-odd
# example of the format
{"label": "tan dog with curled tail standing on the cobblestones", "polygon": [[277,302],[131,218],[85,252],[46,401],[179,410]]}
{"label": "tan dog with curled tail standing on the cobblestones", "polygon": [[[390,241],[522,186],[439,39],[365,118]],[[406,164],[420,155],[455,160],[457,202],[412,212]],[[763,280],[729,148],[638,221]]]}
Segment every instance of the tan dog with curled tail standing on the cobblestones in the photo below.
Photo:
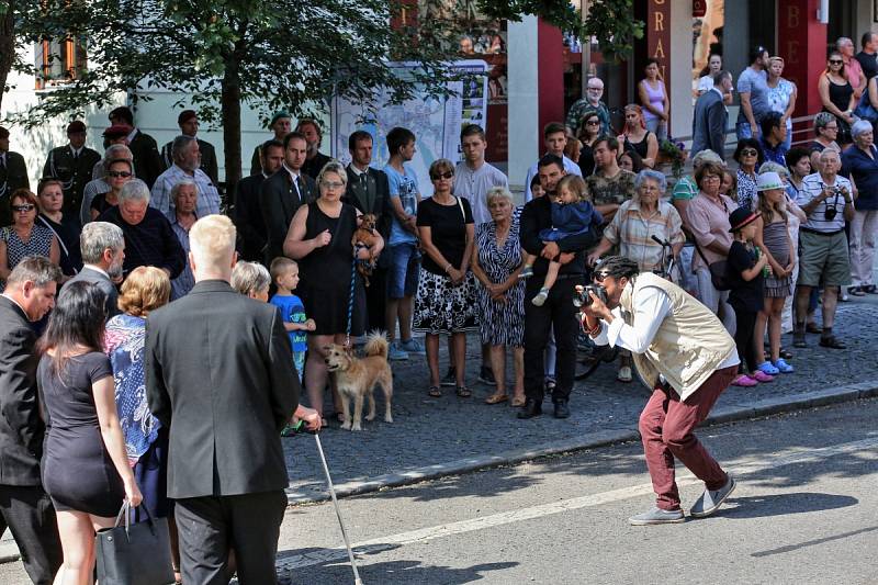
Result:
{"label": "tan dog with curled tail standing on the cobblestones", "polygon": [[[381,331],[372,331],[365,339],[363,351],[365,357],[358,358],[344,346],[333,344],[326,350],[326,369],[336,374],[338,392],[341,394],[341,407],[345,414],[345,430],[362,430],[360,420],[363,415],[363,400],[369,398],[367,420],[375,418],[375,384],[384,391],[384,421],[393,423],[391,415],[391,396],[393,396],[393,373],[387,363],[387,338]],[[353,417],[349,401],[353,400]]]}

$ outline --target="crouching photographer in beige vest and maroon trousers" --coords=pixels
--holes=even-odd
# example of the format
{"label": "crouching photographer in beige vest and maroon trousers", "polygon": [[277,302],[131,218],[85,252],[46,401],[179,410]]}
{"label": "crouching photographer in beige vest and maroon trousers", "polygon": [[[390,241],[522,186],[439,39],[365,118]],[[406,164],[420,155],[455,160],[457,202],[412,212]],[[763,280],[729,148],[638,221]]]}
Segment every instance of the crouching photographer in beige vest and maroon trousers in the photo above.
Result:
{"label": "crouching photographer in beige vest and maroon trousers", "polygon": [[574,296],[583,328],[598,345],[630,350],[638,373],[654,389],[639,429],[656,507],[629,522],[684,521],[674,458],[705,482],[705,493],[689,514],[710,516],[735,482],[693,430],[738,373],[734,340],[705,305],[656,274],[639,273],[633,260],[608,257],[595,269],[593,281]]}

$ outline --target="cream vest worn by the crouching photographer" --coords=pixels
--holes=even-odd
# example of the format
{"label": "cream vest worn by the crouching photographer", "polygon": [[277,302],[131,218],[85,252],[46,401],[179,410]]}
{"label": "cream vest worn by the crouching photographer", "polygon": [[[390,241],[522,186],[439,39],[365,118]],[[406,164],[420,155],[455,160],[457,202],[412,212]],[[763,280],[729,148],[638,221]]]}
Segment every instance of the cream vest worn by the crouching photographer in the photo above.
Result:
{"label": "cream vest worn by the crouching photographer", "polygon": [[656,274],[643,272],[626,286],[619,304],[624,322],[634,326],[633,301],[643,286],[656,286],[671,299],[671,311],[645,353],[633,353],[634,367],[655,387],[658,374],[689,397],[735,350],[734,339],[717,316],[686,291]]}

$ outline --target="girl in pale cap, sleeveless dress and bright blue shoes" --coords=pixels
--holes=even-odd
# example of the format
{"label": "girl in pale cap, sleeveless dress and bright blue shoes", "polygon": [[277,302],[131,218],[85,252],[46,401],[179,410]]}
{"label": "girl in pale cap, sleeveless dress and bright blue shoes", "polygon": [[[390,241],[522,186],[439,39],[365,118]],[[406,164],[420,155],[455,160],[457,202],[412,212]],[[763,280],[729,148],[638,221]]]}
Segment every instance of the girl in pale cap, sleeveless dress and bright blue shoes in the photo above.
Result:
{"label": "girl in pale cap, sleeveless dress and bright blue shoes", "polygon": [[[792,240],[787,230],[786,192],[776,172],[765,172],[758,180],[756,235],[753,243],[768,259],[764,280],[765,304],[756,317],[755,342],[759,370],[768,375],[792,372],[780,357],[780,325],[784,303],[792,294],[791,274],[796,265]],[[768,270],[769,269],[769,270]],[[770,361],[766,361],[762,340],[768,325]]]}

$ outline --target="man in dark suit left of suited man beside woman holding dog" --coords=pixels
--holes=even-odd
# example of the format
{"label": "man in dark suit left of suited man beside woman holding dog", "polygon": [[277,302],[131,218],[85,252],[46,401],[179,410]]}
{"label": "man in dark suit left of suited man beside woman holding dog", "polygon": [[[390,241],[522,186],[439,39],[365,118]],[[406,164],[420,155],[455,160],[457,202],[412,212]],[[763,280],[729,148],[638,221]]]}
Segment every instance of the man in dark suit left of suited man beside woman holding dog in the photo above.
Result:
{"label": "man in dark suit left of suited man beside woman holding dog", "polygon": [[248,261],[262,261],[266,248],[266,223],[259,205],[259,190],[266,179],[278,172],[283,165],[283,143],[267,140],[259,148],[262,157],[258,175],[238,181],[235,189],[235,226],[240,234],[240,257]]}

